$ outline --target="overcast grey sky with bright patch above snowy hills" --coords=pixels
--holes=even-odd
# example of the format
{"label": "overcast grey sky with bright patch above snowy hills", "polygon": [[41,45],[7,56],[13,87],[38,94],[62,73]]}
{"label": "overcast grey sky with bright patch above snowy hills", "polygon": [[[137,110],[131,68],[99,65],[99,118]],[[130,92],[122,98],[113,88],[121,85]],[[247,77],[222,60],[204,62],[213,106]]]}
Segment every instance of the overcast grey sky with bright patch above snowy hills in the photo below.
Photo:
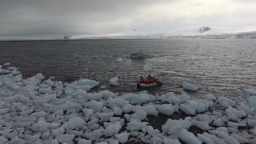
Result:
{"label": "overcast grey sky with bright patch above snowy hills", "polygon": [[0,0],[0,40],[61,39],[132,28],[256,30],[255,0]]}

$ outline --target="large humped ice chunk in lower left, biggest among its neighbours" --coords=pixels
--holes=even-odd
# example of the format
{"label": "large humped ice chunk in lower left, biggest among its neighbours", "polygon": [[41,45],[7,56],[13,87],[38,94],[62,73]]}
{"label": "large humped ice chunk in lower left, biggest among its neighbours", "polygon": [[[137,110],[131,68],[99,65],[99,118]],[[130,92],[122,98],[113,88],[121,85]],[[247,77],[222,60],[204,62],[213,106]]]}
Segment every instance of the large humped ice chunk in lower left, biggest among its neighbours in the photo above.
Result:
{"label": "large humped ice chunk in lower left, biggest among its neighbours", "polygon": [[82,128],[84,125],[86,125],[86,122],[82,118],[75,116],[70,118],[67,123],[62,124],[61,127],[65,130],[73,130],[75,128]]}

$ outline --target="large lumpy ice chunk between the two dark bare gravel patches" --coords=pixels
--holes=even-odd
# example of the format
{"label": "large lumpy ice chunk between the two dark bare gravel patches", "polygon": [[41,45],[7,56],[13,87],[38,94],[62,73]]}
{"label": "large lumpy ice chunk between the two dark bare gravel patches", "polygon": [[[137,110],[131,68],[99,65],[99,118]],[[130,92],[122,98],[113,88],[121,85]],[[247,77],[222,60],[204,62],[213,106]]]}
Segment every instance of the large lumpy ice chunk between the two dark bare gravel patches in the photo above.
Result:
{"label": "large lumpy ice chunk between the two dark bare gravel patches", "polygon": [[188,130],[191,123],[191,117],[186,117],[184,120],[172,120],[167,119],[166,123],[162,125],[162,130],[164,133],[174,134],[178,133],[181,129]]}

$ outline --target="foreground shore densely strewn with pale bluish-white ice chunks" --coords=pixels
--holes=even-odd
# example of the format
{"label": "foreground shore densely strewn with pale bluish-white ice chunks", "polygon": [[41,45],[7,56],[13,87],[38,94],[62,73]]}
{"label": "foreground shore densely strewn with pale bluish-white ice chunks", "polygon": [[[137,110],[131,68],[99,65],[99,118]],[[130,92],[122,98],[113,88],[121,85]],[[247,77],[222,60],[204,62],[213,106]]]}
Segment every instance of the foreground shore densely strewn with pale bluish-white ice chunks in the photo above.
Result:
{"label": "foreground shore densely strewn with pale bluish-white ice chunks", "polygon": [[[10,70],[0,68],[0,71],[5,73],[0,76],[0,143],[256,142],[256,90],[253,89],[236,91],[234,98],[207,94],[203,99],[195,99],[184,91],[156,96],[147,91],[119,95],[108,90],[87,92],[99,85],[93,80],[63,85],[60,81],[45,80],[42,74],[24,79]],[[117,80],[113,78],[111,82]],[[183,86],[198,90],[186,82]],[[159,130],[147,119],[148,115],[171,116],[178,112],[189,116],[169,118]],[[190,127],[204,132],[195,133]],[[126,130],[122,132],[122,128]]]}

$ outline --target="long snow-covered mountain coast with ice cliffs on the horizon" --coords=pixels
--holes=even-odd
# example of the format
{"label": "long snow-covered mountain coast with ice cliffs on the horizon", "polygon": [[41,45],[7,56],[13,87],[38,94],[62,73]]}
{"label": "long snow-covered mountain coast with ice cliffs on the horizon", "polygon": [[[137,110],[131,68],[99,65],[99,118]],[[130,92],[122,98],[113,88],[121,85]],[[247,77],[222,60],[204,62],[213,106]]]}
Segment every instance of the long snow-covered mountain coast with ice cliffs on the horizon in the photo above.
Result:
{"label": "long snow-covered mountain coast with ice cliffs on the horizon", "polygon": [[131,29],[112,34],[86,34],[70,36],[68,39],[160,39],[160,38],[256,38],[256,31],[234,31],[228,28],[186,27],[170,32],[146,34]]}

